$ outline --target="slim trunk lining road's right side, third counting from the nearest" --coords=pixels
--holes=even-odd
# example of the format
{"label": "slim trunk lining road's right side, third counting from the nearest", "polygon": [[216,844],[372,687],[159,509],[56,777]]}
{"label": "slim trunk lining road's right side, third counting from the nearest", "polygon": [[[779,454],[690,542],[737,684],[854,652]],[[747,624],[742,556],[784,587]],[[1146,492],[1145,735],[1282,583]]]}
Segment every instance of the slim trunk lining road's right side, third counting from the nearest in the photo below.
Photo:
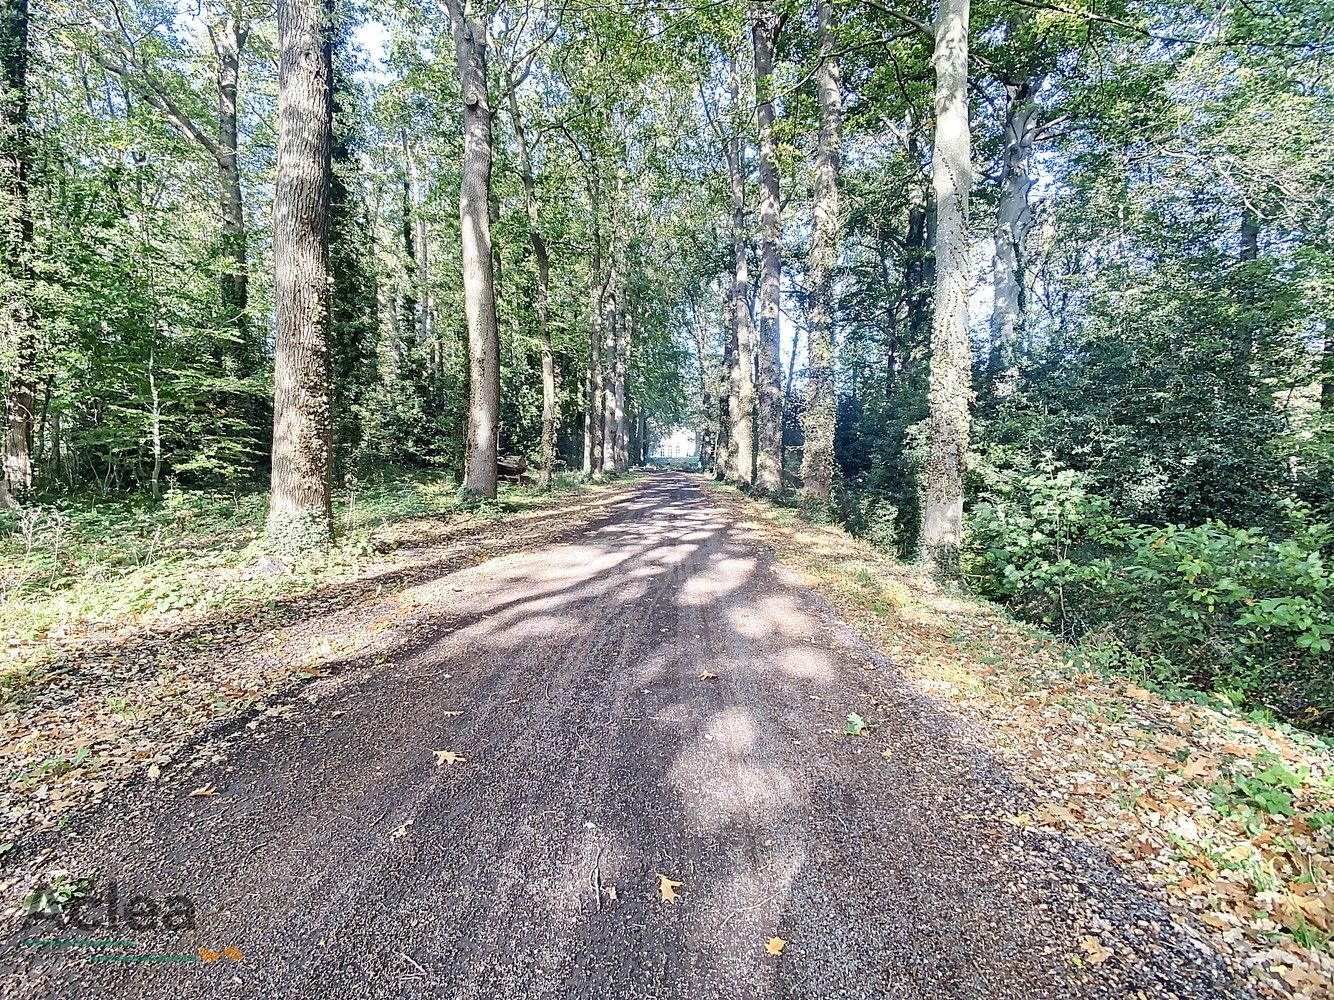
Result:
{"label": "slim trunk lining road's right side, third counting from the nearest", "polygon": [[774,148],[774,45],[780,21],[755,8],[751,41],[755,53],[756,119],[759,121],[759,219],[763,275],[759,289],[759,455],[755,487],[762,493],[783,489],[783,364],[779,357],[779,281],[782,219],[778,153]]}

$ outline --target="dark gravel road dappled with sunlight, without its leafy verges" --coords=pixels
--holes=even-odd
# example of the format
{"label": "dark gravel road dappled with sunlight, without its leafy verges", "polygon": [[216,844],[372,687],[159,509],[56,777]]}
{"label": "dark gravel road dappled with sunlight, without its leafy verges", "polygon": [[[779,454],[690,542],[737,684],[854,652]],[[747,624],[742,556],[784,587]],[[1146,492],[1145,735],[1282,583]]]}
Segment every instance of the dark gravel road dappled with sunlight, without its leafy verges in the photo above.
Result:
{"label": "dark gravel road dappled with sunlight, without its leafy verges", "polygon": [[71,871],[193,929],[11,925],[0,992],[1246,995],[1097,851],[999,823],[1022,789],[698,477],[410,596],[394,656],[80,821]]}

